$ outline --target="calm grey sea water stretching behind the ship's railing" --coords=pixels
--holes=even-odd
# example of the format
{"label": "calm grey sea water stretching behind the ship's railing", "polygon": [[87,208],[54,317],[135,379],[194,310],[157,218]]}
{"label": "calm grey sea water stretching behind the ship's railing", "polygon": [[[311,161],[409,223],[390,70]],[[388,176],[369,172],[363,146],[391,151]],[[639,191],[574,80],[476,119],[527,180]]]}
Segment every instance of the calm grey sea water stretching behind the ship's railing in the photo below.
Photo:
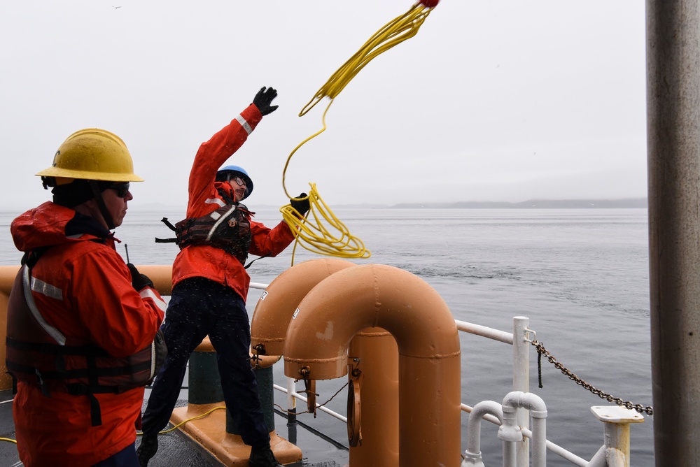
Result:
{"label": "calm grey sea water stretching behind the ship's railing", "polygon": [[[134,264],[170,264],[177,247],[156,244],[172,232],[160,222],[176,222],[184,210],[130,210],[117,229],[118,247],[128,245]],[[9,223],[18,213],[0,213],[4,240],[0,264],[18,264]],[[647,212],[644,209],[395,210],[344,209],[335,215],[372,252],[358,264],[377,263],[418,275],[442,295],[454,317],[512,331],[512,317],[527,316],[537,338],[556,359],[594,387],[624,400],[652,405],[648,289]],[[275,209],[258,210],[256,220],[279,222]],[[253,282],[269,283],[292,264],[318,257],[301,248],[256,261]],[[249,312],[260,296],[251,291]],[[512,380],[510,345],[461,333],[462,402],[502,401]],[[283,368],[275,381],[283,385]],[[608,405],[570,381],[546,360],[538,387],[537,353],[531,350],[531,391],[547,404],[547,438],[591,459],[603,444],[603,424],[592,405]],[[345,380],[319,382],[318,401],[342,388]],[[286,405],[284,396],[276,403]],[[328,407],[345,414],[346,391]],[[300,407],[298,410],[302,410]],[[462,417],[463,449],[466,423]],[[302,422],[346,443],[346,427],[318,413]],[[631,426],[631,463],[653,466],[652,417]],[[283,427],[277,428],[283,436]],[[487,465],[500,465],[497,427],[482,424]],[[569,466],[551,452],[547,465]]]}

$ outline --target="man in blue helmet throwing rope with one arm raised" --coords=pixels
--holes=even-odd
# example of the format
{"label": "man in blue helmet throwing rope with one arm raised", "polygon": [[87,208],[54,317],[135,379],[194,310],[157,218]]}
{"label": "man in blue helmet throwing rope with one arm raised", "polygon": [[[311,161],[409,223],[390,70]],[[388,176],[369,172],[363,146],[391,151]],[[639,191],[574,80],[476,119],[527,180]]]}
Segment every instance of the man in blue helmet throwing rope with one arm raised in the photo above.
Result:
{"label": "man in blue helmet throwing rope with one arm raised", "polygon": [[[248,465],[280,466],[269,444],[258,384],[250,361],[251,330],[246,311],[250,276],[248,253],[274,257],[294,236],[286,222],[273,229],[253,220],[241,201],[253,192],[253,180],[239,166],[223,166],[267,115],[277,92],[263,87],[253,103],[197,151],[190,171],[186,219],[175,225],[180,247],[173,264],[172,297],[162,331],[168,357],[155,378],[144,413],[144,436],[137,451],[141,467],[158,451],[158,432],[168,423],[190,354],[209,336],[217,353],[226,407],[246,445]],[[299,198],[306,198],[301,194]],[[309,201],[290,200],[303,216]]]}

